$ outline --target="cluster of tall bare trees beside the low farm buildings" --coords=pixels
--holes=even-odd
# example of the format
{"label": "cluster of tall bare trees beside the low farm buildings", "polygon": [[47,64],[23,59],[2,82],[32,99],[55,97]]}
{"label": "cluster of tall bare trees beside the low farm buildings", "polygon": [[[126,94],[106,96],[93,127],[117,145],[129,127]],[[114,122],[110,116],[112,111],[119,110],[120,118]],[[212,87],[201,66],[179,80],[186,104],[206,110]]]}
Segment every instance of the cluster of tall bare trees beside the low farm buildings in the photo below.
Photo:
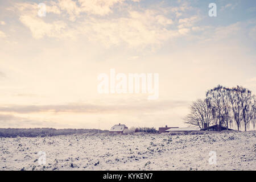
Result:
{"label": "cluster of tall bare trees beside the low farm buildings", "polygon": [[199,126],[218,124],[219,126],[236,126],[237,130],[246,131],[250,125],[255,129],[256,119],[255,95],[242,86],[226,88],[218,85],[206,93],[204,100],[197,100],[190,106],[190,113],[184,118],[185,123]]}

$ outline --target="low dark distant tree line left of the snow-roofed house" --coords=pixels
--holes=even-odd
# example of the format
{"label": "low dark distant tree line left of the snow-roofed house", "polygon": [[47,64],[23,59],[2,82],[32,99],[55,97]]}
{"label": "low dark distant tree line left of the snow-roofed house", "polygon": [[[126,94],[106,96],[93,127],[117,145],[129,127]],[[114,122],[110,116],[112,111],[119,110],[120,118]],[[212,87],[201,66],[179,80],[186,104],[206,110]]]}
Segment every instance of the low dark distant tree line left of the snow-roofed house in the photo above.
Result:
{"label": "low dark distant tree line left of the snow-roofed house", "polygon": [[[100,133],[108,132],[108,130],[99,130]],[[98,133],[97,129],[52,129],[52,128],[36,128],[36,129],[0,129],[0,137],[52,137],[57,135],[71,135],[82,133]]]}

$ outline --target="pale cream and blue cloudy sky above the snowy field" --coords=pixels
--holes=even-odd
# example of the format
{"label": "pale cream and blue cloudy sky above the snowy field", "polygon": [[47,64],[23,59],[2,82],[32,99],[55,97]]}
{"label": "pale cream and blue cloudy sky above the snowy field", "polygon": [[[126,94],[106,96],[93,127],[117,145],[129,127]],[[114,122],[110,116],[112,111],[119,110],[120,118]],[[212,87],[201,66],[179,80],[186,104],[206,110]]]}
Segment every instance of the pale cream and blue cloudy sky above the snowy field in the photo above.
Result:
{"label": "pale cream and blue cloudy sky above the snowy field", "polygon": [[[185,127],[218,84],[255,94],[255,46],[254,0],[0,0],[0,127]],[[158,73],[158,98],[99,93],[110,69]]]}

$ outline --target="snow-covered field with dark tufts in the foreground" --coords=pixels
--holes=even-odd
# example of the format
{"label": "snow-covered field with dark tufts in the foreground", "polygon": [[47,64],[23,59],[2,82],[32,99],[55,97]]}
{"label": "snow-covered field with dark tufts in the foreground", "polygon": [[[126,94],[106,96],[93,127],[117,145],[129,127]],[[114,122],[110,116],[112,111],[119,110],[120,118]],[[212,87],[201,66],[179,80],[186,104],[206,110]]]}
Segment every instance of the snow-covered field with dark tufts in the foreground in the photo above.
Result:
{"label": "snow-covered field with dark tufts in the foreground", "polygon": [[[256,170],[255,134],[0,138],[0,170]],[[46,164],[39,165],[39,151]],[[209,163],[210,151],[216,164]]]}

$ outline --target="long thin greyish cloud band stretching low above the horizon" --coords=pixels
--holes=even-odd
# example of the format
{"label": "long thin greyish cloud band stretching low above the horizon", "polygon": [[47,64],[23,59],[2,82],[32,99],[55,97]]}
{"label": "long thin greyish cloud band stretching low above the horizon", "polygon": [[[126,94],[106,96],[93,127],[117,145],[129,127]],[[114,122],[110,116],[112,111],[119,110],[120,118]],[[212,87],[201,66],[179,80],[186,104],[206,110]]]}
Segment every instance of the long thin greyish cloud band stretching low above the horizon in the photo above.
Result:
{"label": "long thin greyish cloud band stretching low above the horizon", "polygon": [[94,104],[65,104],[65,105],[4,105],[0,106],[0,112],[5,113],[119,113],[129,111],[159,111],[172,109],[175,107],[187,107],[189,101],[155,101],[148,102],[147,100],[134,102],[126,102],[126,104],[118,104],[117,102],[108,105]]}

